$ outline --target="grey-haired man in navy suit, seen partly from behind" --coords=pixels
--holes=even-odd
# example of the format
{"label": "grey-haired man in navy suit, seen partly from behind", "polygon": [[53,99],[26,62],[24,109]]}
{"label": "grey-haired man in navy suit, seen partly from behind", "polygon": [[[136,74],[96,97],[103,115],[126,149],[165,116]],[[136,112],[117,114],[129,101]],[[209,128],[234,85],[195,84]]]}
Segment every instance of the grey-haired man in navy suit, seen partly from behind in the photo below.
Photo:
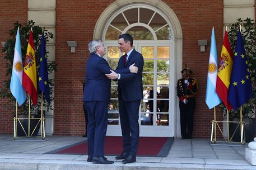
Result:
{"label": "grey-haired man in navy suit, seen partly from behind", "polygon": [[[108,62],[102,56],[106,54],[100,40],[88,44],[90,58],[86,63],[83,105],[88,114],[88,158],[87,162],[112,164],[104,156],[104,139],[108,126],[108,103],[110,103],[110,83],[105,74],[110,73]],[[130,73],[135,67],[115,70],[117,73]],[[136,71],[134,71],[136,72]],[[115,72],[114,72],[115,73]]]}

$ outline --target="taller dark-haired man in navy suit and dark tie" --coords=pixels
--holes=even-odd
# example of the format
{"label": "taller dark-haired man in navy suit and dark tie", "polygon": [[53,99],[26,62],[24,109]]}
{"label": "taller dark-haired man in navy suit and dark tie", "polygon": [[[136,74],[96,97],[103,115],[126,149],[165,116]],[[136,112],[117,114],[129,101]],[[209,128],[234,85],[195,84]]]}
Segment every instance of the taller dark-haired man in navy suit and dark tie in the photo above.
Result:
{"label": "taller dark-haired man in navy suit and dark tie", "polygon": [[123,163],[136,162],[139,139],[139,105],[143,98],[142,71],[143,56],[133,49],[133,39],[129,34],[118,37],[119,49],[125,53],[120,57],[117,69],[125,69],[135,64],[138,73],[106,74],[110,79],[118,79],[119,115],[123,135],[123,152],[115,159],[124,159]]}

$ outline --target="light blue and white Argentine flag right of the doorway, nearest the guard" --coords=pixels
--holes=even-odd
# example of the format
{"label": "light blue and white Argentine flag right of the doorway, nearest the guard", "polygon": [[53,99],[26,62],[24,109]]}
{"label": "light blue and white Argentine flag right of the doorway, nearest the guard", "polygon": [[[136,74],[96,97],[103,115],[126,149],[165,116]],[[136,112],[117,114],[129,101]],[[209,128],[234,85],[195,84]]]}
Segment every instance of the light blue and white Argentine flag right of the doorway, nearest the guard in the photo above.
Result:
{"label": "light blue and white Argentine flag right of the doorway, nearest the guard", "polygon": [[217,69],[218,69],[217,49],[216,49],[216,41],[215,41],[215,34],[214,34],[214,27],[213,27],[212,37],[211,37],[211,52],[210,52],[210,59],[208,64],[207,87],[206,87],[206,104],[209,107],[209,109],[221,103],[221,100],[215,91]]}

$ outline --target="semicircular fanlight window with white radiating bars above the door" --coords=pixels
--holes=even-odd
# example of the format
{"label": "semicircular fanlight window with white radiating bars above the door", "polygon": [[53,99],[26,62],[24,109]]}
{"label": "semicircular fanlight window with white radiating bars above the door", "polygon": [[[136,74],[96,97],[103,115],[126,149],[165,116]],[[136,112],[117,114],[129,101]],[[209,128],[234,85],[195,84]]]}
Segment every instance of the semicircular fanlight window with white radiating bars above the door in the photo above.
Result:
{"label": "semicircular fanlight window with white radiating bars above the door", "polygon": [[169,24],[160,12],[150,7],[125,8],[110,21],[105,40],[117,40],[128,33],[134,40],[173,40]]}

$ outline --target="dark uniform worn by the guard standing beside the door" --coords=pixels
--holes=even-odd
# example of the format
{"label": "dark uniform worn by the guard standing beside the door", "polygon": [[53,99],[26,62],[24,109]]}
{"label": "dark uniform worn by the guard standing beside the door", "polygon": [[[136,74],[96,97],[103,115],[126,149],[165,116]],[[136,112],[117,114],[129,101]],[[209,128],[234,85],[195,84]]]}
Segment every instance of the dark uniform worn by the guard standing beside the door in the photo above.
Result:
{"label": "dark uniform worn by the guard standing beside the door", "polygon": [[[196,107],[197,79],[188,78],[188,82],[187,86],[185,79],[181,78],[177,85],[182,139],[192,139],[194,108]],[[183,102],[184,99],[187,99],[186,104]]]}

